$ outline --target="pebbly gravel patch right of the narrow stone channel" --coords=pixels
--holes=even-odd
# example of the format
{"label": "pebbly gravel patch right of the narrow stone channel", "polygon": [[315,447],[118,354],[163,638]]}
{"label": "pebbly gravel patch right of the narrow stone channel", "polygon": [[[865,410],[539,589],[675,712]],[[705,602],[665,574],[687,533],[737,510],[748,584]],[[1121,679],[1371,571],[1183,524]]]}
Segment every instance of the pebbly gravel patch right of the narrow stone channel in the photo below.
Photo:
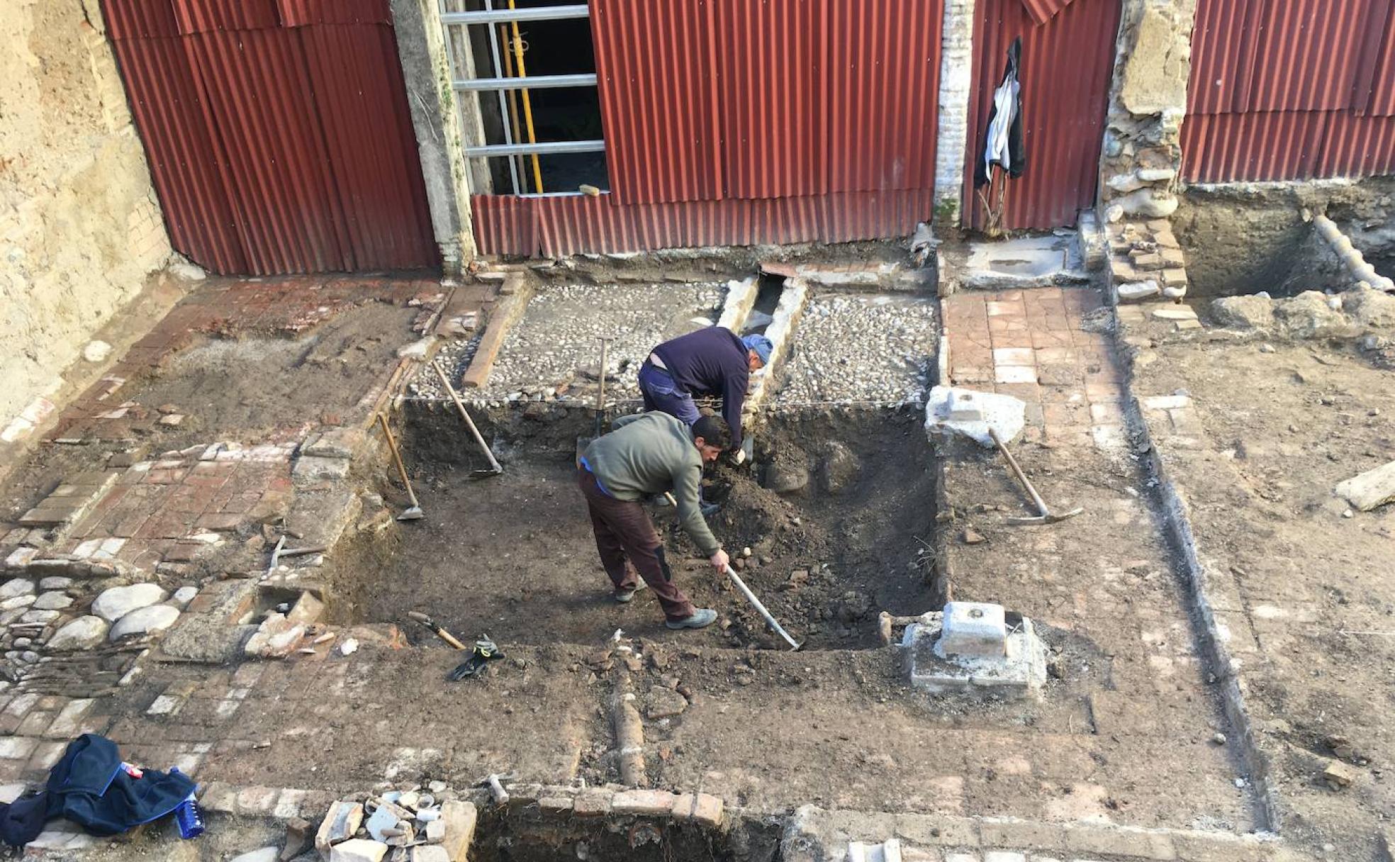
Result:
{"label": "pebbly gravel patch right of the narrow stone channel", "polygon": [[795,328],[777,406],[919,403],[939,345],[932,300],[816,294]]}

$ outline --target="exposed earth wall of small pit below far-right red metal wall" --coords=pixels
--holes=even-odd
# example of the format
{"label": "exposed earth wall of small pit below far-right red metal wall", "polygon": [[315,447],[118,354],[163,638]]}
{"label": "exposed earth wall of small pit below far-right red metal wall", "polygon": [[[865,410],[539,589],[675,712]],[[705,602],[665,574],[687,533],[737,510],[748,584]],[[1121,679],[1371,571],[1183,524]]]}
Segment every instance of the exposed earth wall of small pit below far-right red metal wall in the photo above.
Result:
{"label": "exposed earth wall of small pit below far-right red metal wall", "polygon": [[1172,223],[1196,296],[1321,290],[1335,264],[1304,206],[1325,212],[1373,262],[1395,251],[1395,177],[1191,186],[1179,199]]}

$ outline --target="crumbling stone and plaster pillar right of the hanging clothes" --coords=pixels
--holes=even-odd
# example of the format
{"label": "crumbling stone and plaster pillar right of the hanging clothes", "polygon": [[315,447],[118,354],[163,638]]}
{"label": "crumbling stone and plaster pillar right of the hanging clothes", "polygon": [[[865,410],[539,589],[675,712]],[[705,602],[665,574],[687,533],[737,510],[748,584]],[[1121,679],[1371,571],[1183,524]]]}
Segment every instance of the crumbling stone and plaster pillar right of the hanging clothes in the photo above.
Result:
{"label": "crumbling stone and plaster pillar right of the hanging clothes", "polygon": [[1177,209],[1197,3],[1124,0],[1123,6],[1099,163],[1108,222],[1166,218]]}

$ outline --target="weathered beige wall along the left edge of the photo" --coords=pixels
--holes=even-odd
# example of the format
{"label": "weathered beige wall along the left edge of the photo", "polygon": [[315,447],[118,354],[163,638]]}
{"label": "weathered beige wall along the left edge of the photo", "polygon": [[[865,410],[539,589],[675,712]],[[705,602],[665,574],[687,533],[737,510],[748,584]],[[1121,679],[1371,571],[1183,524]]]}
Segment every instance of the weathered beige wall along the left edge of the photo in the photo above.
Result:
{"label": "weathered beige wall along the left edge of the photo", "polygon": [[0,4],[6,442],[42,421],[59,374],[170,257],[103,29],[96,0]]}

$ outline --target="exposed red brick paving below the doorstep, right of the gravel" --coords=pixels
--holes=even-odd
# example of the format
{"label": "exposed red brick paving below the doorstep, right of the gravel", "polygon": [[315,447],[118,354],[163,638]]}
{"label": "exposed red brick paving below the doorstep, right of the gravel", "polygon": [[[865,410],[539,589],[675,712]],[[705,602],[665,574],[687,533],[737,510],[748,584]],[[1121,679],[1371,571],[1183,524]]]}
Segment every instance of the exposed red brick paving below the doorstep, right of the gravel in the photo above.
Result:
{"label": "exposed red brick paving below the doorstep, right of the gravel", "polygon": [[1123,385],[1110,336],[1081,329],[1102,307],[1089,287],[956,293],[944,301],[950,381],[1027,402],[1025,437],[1123,445]]}

